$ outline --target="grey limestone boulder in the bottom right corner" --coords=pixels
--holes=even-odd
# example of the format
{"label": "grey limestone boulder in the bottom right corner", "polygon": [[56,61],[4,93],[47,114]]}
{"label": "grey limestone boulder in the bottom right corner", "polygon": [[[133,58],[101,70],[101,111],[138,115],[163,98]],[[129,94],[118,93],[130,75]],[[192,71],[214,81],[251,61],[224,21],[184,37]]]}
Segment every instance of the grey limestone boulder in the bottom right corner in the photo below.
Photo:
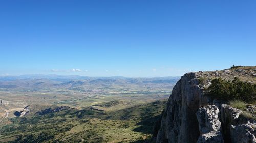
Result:
{"label": "grey limestone boulder in the bottom right corner", "polygon": [[249,124],[231,125],[230,136],[232,143],[255,143],[256,131]]}

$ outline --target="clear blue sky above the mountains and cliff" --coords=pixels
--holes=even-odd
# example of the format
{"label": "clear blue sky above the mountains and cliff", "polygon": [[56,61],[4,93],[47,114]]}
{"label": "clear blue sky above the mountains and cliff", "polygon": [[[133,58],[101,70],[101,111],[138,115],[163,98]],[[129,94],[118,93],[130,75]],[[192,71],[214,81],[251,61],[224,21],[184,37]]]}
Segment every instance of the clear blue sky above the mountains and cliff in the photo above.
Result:
{"label": "clear blue sky above the mountains and cliff", "polygon": [[0,0],[0,75],[180,76],[256,65],[255,0]]}

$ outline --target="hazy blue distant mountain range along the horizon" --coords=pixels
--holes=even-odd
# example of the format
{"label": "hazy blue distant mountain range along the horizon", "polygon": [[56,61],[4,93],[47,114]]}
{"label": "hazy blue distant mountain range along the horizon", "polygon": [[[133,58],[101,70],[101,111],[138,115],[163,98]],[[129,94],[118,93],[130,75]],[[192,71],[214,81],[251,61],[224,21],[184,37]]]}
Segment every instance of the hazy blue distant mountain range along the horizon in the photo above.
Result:
{"label": "hazy blue distant mountain range along the horizon", "polygon": [[78,75],[20,75],[0,77],[0,88],[50,88],[50,87],[79,87],[82,85],[109,84],[175,84],[180,77],[150,77],[131,78],[122,76],[88,77]]}

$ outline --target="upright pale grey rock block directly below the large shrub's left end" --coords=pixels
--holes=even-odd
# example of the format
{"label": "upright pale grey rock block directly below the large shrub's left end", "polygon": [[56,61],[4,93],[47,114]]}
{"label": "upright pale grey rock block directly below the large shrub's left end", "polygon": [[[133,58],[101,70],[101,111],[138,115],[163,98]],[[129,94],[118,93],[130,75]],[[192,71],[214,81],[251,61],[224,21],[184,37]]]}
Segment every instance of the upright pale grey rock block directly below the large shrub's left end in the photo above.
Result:
{"label": "upright pale grey rock block directly below the large shrub's left end", "polygon": [[197,120],[201,134],[221,131],[221,122],[218,118],[219,112],[215,105],[208,105],[198,110]]}

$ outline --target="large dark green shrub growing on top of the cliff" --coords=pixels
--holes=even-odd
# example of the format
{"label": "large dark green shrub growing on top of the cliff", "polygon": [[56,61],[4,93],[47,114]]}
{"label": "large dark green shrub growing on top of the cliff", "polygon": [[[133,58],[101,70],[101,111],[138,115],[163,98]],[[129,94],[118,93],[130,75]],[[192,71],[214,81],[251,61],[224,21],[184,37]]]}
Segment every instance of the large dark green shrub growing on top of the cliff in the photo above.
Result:
{"label": "large dark green shrub growing on top of the cliff", "polygon": [[207,89],[207,95],[222,100],[241,100],[247,103],[256,101],[256,84],[242,82],[235,77],[233,81],[222,78],[213,79]]}

